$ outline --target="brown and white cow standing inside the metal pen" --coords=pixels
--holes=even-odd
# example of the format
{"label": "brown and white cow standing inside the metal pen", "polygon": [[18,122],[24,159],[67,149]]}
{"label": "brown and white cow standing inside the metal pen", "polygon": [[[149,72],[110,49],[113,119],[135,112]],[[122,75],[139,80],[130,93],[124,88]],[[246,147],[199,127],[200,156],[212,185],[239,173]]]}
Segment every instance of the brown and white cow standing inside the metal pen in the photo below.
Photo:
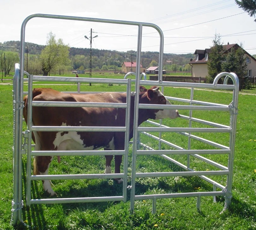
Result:
{"label": "brown and white cow standing inside the metal pen", "polygon": [[[131,95],[130,135],[133,137],[134,95]],[[27,96],[24,97],[23,116],[27,122]],[[50,88],[33,90],[33,101],[63,102],[108,102],[126,103],[126,93],[104,92],[93,94],[62,93]],[[159,87],[146,89],[140,86],[139,103],[170,104]],[[139,109],[138,125],[147,119],[177,118],[179,113],[173,109]],[[38,107],[33,106],[32,122],[34,126],[125,126],[125,109],[123,108],[88,108],[88,107]],[[124,132],[33,132],[35,150],[124,150]],[[106,157],[104,173],[111,173],[110,163],[113,156]],[[46,175],[53,156],[34,157],[34,175]],[[60,157],[58,157],[60,162]],[[120,173],[122,156],[115,156],[115,173]],[[119,183],[122,179],[118,180]],[[54,195],[50,180],[43,181],[44,190]]]}

